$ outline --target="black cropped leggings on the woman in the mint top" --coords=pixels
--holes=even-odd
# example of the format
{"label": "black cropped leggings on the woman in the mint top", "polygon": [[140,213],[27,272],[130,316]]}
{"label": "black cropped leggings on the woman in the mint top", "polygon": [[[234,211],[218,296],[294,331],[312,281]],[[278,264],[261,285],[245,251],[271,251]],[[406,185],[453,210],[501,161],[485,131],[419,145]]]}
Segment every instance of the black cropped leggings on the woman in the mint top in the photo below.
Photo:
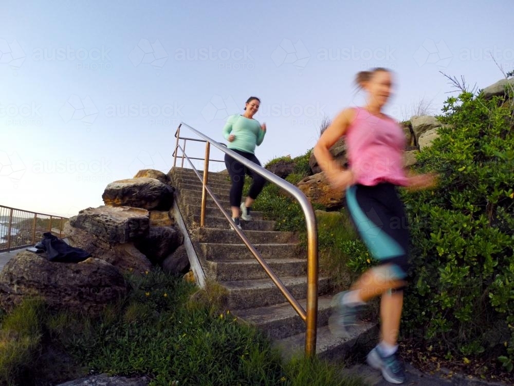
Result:
{"label": "black cropped leggings on the woman in the mint top", "polygon": [[[247,153],[246,151],[235,150],[237,154],[241,154],[247,160],[261,166],[261,163],[255,156],[255,154]],[[266,180],[260,174],[255,173],[253,170],[248,169],[241,162],[234,160],[230,155],[225,154],[225,166],[227,167],[228,173],[230,174],[230,180],[232,181],[232,187],[230,188],[230,205],[240,206],[241,196],[243,195],[243,185],[245,184],[245,174],[248,174],[253,179],[250,186],[248,196],[255,200],[259,193],[262,191]]]}

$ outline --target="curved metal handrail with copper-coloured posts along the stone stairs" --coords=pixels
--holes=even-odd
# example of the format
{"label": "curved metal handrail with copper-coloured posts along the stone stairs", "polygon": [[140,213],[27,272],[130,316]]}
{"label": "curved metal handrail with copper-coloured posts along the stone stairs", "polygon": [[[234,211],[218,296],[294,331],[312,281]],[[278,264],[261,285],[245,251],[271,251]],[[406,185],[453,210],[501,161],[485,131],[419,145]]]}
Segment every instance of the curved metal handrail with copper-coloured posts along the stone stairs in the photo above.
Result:
{"label": "curved metal handrail with copper-coloured posts along the stone stairs", "polygon": [[[187,127],[189,130],[193,131],[196,135],[203,139],[196,138],[187,138],[180,137],[180,128]],[[305,197],[303,192],[298,189],[296,186],[291,185],[289,182],[284,179],[278,177],[276,174],[273,174],[269,170],[247,160],[245,157],[237,154],[236,152],[228,149],[226,146],[214,141],[214,139],[209,138],[207,135],[197,131],[192,128],[185,122],[181,122],[175,132],[175,137],[177,138],[175,151],[173,152],[174,161],[173,167],[176,166],[178,150],[182,151],[182,166],[183,160],[186,159],[191,165],[193,171],[195,172],[198,179],[203,181],[202,187],[202,195],[201,195],[201,214],[200,214],[200,226],[205,226],[205,213],[206,213],[206,202],[207,202],[207,194],[209,194],[214,201],[214,203],[219,207],[222,211],[223,215],[227,218],[227,220],[232,224],[235,232],[241,239],[243,240],[246,247],[253,254],[255,259],[259,262],[259,264],[266,271],[267,275],[271,278],[273,283],[279,288],[282,292],[286,300],[291,304],[291,306],[295,309],[295,311],[300,315],[300,318],[305,322],[305,354],[307,356],[312,356],[316,353],[316,339],[317,339],[317,320],[318,320],[318,230],[316,225],[316,216],[314,214],[313,206],[310,201]],[[179,139],[185,139],[184,147],[180,147],[178,142]],[[197,142],[205,142],[205,157],[204,157],[204,175],[200,176],[200,173],[194,167],[191,160],[201,160],[200,158],[188,157],[185,152],[185,143],[186,140],[197,141]],[[213,145],[217,149],[223,151],[224,153],[230,155],[238,162],[245,165],[247,168],[250,168],[254,172],[260,174],[269,182],[278,185],[282,189],[286,190],[292,197],[294,197],[300,207],[303,210],[303,214],[305,216],[305,224],[307,229],[307,310],[304,310],[300,303],[292,296],[289,290],[284,286],[280,278],[276,273],[269,267],[267,262],[262,258],[261,254],[255,250],[253,245],[250,243],[245,234],[235,226],[235,223],[232,220],[231,215],[227,214],[227,212],[223,209],[223,205],[218,201],[213,192],[208,186],[208,178],[209,178],[209,156],[210,156],[210,145]],[[214,160],[215,161],[215,160]]]}

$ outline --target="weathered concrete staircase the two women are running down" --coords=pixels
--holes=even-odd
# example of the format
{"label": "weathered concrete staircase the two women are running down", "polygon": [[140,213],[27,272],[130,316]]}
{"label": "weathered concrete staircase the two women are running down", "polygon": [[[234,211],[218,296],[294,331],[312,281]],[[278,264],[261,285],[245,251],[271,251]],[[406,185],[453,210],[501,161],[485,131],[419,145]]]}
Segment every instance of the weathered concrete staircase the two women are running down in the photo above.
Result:
{"label": "weathered concrete staircase the two women are running down", "polygon": [[[200,171],[200,176],[203,171]],[[208,196],[206,226],[199,227],[201,182],[191,169],[173,168],[169,172],[176,188],[177,204],[190,231],[193,246],[206,273],[227,290],[226,306],[237,318],[268,335],[287,357],[303,353],[305,323],[285,300],[229,221]],[[227,174],[209,172],[209,187],[226,213],[230,214],[230,180]],[[307,259],[296,234],[276,232],[275,221],[264,219],[252,210],[252,221],[241,220],[243,232],[266,260],[290,293],[306,308]],[[331,313],[331,286],[319,278],[317,353],[327,359],[344,354],[359,339],[376,339],[377,331],[363,324],[354,336],[333,336],[327,327]]]}

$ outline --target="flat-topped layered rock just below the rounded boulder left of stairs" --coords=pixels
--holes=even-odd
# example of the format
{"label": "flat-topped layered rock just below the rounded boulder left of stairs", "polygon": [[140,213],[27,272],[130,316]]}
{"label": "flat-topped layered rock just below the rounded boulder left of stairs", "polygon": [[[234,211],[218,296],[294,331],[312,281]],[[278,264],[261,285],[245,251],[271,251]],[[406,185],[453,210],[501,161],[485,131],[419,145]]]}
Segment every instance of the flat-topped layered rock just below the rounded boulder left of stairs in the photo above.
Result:
{"label": "flat-topped layered rock just below the rounded boulder left of stairs", "polygon": [[144,235],[149,227],[148,210],[127,206],[82,209],[69,219],[71,226],[108,242],[127,242]]}

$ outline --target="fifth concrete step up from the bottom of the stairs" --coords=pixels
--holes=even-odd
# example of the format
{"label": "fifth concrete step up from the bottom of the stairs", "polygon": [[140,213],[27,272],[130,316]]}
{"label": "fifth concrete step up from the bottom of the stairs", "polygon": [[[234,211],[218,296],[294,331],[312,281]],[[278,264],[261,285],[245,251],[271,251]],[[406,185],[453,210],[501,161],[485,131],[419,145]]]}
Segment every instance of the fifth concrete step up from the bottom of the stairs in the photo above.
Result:
{"label": "fifth concrete step up from the bottom of the stairs", "polygon": [[[255,257],[245,244],[221,244],[216,242],[200,242],[201,251],[206,260],[251,260]],[[298,258],[298,244],[254,244],[253,247],[263,259],[277,256],[282,258]]]}

